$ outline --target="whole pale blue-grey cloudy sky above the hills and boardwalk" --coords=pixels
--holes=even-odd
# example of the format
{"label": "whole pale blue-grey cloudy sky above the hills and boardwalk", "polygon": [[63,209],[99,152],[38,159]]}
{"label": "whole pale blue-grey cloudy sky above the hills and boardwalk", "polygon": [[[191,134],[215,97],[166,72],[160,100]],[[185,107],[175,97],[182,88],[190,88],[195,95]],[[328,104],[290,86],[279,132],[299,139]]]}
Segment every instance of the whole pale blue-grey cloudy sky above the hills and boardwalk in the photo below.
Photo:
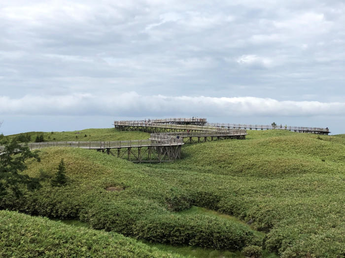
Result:
{"label": "whole pale blue-grey cloudy sky above the hills and boardwalk", "polygon": [[345,133],[343,0],[0,0],[0,133],[114,119]]}

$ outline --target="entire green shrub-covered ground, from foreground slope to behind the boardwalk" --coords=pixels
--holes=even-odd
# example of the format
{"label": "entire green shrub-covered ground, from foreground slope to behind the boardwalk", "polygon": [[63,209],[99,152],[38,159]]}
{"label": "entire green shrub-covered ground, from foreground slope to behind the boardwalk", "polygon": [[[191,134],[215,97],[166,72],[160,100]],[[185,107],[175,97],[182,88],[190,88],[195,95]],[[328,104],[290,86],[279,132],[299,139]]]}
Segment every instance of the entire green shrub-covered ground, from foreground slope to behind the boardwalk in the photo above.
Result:
{"label": "entire green shrub-covered ground, from foreground slope to behind the boardwalk", "polygon": [[[149,137],[115,129],[28,134]],[[162,164],[76,148],[39,156],[25,173],[42,187],[0,199],[0,257],[345,257],[344,135],[248,131],[246,140],[185,144],[181,160]],[[62,158],[68,183],[55,187]]]}

